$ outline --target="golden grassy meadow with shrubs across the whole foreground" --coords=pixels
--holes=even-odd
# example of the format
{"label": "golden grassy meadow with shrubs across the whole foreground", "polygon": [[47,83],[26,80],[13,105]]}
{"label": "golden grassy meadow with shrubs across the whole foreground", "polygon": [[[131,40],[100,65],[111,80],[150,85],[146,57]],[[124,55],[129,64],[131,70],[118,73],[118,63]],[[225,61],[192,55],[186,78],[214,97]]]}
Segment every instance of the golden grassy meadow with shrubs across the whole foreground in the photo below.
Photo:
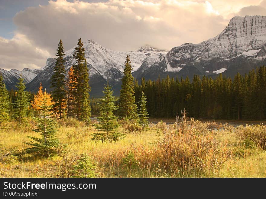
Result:
{"label": "golden grassy meadow with shrubs across the whole foreground", "polygon": [[[96,121],[92,121],[95,123]],[[80,154],[91,157],[96,177],[266,177],[266,127],[197,120],[149,124],[138,131],[134,122],[120,122],[125,138],[92,141],[92,124],[57,122],[57,138],[66,148],[57,156],[18,155],[28,146],[34,121],[1,124],[0,177],[71,177]]]}

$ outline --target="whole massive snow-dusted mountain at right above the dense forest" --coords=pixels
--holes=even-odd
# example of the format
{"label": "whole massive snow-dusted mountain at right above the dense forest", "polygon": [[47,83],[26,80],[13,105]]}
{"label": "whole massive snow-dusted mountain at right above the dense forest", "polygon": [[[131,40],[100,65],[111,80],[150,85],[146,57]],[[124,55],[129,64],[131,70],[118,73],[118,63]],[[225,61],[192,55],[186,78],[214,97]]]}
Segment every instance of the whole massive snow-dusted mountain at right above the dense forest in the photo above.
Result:
{"label": "whole massive snow-dusted mountain at right above the dense forest", "polygon": [[235,16],[216,37],[199,44],[174,47],[165,56],[159,56],[154,64],[147,63],[143,62],[135,77],[244,74],[266,64],[266,17]]}

